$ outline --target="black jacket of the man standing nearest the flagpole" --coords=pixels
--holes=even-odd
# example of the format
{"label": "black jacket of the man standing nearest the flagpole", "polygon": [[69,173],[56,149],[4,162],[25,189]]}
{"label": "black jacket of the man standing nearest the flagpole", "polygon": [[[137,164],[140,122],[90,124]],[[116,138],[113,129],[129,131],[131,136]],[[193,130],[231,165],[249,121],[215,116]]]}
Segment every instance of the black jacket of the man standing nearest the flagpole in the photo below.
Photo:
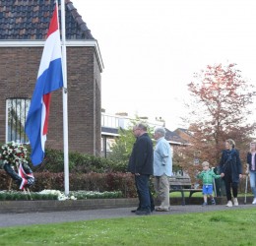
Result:
{"label": "black jacket of the man standing nearest the flagpole", "polygon": [[129,159],[128,171],[153,175],[153,143],[147,133],[138,137]]}

